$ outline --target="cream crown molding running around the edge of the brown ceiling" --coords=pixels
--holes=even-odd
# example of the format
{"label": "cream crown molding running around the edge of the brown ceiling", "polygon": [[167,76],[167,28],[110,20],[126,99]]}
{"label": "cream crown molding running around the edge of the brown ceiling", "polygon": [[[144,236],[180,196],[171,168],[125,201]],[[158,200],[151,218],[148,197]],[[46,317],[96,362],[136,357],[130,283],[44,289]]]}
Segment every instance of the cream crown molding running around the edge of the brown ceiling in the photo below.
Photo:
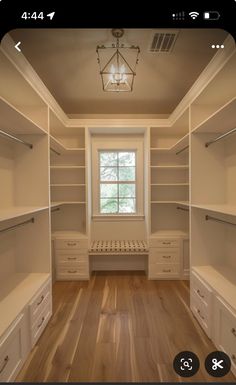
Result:
{"label": "cream crown molding running around the edge of the brown ceiling", "polygon": [[19,54],[19,52],[16,51],[15,43],[9,34],[5,35],[5,37],[2,39],[0,49],[66,127],[171,127],[235,53],[235,42],[231,35],[225,39],[224,46],[224,49],[217,51],[217,53],[213,56],[207,67],[202,71],[198,79],[194,82],[192,87],[180,101],[175,110],[170,114],[170,116],[162,119],[69,118],[63,109],[59,106],[56,99],[52,96],[48,88],[45,86],[25,56],[22,53]]}

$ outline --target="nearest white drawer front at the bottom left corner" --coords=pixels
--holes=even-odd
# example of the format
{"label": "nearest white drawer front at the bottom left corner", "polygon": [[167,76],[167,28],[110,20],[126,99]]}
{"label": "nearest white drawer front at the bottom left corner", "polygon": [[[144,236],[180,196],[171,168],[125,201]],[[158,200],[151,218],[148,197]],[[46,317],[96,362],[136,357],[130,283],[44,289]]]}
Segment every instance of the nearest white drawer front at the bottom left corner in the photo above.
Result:
{"label": "nearest white drawer front at the bottom left corner", "polygon": [[21,314],[0,342],[0,382],[13,381],[26,356],[25,317]]}

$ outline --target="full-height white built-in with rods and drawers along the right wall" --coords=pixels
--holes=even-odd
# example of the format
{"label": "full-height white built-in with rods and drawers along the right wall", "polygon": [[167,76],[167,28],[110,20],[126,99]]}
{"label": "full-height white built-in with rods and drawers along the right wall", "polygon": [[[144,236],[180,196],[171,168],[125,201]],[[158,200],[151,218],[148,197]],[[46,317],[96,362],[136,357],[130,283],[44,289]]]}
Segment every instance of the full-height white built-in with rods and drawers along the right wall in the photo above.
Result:
{"label": "full-height white built-in with rods and drawers along the right wall", "polygon": [[191,309],[236,374],[235,53],[190,115]]}

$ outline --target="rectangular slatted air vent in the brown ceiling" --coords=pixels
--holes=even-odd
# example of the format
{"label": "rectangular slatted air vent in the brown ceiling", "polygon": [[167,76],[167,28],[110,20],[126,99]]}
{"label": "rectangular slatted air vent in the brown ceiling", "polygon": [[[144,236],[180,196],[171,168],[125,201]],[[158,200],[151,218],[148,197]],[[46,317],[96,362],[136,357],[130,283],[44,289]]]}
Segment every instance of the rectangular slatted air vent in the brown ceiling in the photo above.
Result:
{"label": "rectangular slatted air vent in the brown ceiling", "polygon": [[155,32],[150,44],[149,52],[171,52],[178,32]]}

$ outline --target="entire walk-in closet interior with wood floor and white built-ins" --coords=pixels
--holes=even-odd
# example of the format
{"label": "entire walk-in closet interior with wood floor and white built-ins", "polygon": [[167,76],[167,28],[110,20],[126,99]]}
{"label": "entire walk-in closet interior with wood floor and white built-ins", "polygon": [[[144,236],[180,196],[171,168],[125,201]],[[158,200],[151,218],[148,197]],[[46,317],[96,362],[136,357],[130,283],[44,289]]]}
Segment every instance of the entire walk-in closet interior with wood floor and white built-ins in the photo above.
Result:
{"label": "entire walk-in closet interior with wood floor and white built-ins", "polygon": [[[129,55],[108,73],[114,36],[135,74]],[[230,34],[10,31],[0,184],[1,382],[180,382],[182,351],[200,360],[192,381],[214,382],[216,350],[235,381]]]}

